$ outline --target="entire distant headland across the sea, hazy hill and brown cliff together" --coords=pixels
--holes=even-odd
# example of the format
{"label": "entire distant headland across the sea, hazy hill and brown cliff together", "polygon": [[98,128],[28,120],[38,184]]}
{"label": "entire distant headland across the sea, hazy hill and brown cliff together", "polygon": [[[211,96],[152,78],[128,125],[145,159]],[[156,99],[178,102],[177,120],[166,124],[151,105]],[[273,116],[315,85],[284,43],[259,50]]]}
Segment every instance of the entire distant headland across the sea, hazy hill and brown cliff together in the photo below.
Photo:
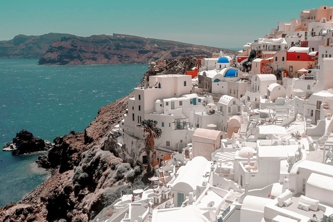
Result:
{"label": "entire distant headland across the sea, hazy hill and brown cliff together", "polygon": [[187,44],[134,35],[92,35],[79,37],[63,33],[17,35],[0,41],[0,58],[37,58],[40,65],[148,64],[188,56],[212,56],[230,49]]}

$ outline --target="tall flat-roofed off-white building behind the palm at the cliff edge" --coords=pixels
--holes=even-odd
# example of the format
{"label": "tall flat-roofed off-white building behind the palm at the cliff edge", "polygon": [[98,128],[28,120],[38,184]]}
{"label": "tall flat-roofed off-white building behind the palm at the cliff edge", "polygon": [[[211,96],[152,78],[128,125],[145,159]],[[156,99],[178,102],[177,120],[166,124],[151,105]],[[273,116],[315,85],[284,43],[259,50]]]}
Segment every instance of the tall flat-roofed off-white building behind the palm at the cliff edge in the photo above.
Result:
{"label": "tall flat-roofed off-white building behind the palm at the cliff edge", "polygon": [[[169,98],[181,97],[182,95],[189,94],[190,92],[191,76],[186,75],[151,76],[147,87],[135,88],[135,97],[128,99],[128,114],[124,117],[122,126],[123,144],[126,145],[128,153],[133,154],[131,157],[133,157],[134,160],[139,160],[140,162],[144,162],[144,160],[146,160],[144,153],[142,153],[142,156],[139,156],[139,151],[132,151],[133,149],[137,149],[142,146],[142,144],[140,145],[138,143],[141,142],[140,139],[144,139],[144,133],[142,129],[137,126],[137,124],[144,119],[155,119],[158,122],[158,127],[162,128],[162,131],[165,130],[164,128],[177,130],[180,123],[188,123],[188,119],[186,119],[186,117],[182,114],[182,110],[178,109],[178,107],[181,106],[182,102],[190,104],[192,101],[193,103],[193,99],[184,98],[178,101],[177,99],[170,100]],[[163,99],[169,100],[162,103],[161,100],[163,101]],[[202,103],[200,102],[200,104]],[[162,108],[163,112],[173,112],[173,114],[178,113],[178,115],[175,116],[167,114],[164,115],[163,119],[161,119],[160,117],[163,115],[157,114],[155,111],[156,108],[157,112],[160,112],[159,109]],[[186,121],[184,121],[184,119]],[[179,135],[178,137],[170,137],[170,135],[168,135],[168,130],[165,130],[164,133],[162,132],[160,141],[155,141],[155,146],[161,146],[162,149],[163,147],[170,147],[169,149],[164,150],[164,154],[167,154],[172,150],[178,150],[178,148],[183,148],[183,146],[185,146],[191,138],[190,134],[187,137],[187,141],[185,141],[186,135],[189,131],[183,130],[184,128],[187,128],[187,125],[182,125],[182,128],[180,128],[181,133],[174,133],[175,135]],[[167,138],[172,138],[173,141],[169,141]]]}

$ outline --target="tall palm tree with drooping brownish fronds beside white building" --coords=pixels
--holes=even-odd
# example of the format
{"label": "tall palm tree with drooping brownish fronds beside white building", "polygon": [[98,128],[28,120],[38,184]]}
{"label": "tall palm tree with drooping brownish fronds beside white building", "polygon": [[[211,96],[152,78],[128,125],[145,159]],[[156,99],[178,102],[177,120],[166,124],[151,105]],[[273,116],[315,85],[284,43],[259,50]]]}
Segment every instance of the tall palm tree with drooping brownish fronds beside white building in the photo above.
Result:
{"label": "tall palm tree with drooping brownish fronds beside white building", "polygon": [[144,129],[144,142],[146,143],[145,150],[147,154],[147,172],[151,171],[151,152],[154,151],[155,139],[159,139],[162,135],[162,130],[156,127],[157,121],[153,119],[144,119],[139,123],[139,127]]}

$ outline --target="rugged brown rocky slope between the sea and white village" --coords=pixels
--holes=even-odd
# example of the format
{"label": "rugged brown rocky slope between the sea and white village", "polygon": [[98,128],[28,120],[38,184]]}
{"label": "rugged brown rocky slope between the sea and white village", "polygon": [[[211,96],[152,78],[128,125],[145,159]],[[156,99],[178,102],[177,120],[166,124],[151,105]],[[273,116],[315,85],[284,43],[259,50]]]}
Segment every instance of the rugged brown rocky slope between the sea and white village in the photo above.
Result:
{"label": "rugged brown rocky slope between the sea and white village", "polygon": [[[45,160],[52,176],[18,203],[1,207],[0,221],[91,221],[132,187],[145,187],[141,170],[101,150],[105,137],[126,113],[129,94],[99,109],[85,132],[57,137]],[[37,161],[38,162],[38,161]]]}

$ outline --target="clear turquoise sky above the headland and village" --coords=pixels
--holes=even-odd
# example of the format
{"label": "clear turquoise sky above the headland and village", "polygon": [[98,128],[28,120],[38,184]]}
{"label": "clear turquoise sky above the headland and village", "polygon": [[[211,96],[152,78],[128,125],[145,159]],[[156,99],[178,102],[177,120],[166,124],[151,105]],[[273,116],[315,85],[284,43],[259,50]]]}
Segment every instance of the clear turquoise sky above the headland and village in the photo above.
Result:
{"label": "clear turquoise sky above the headland and village", "polygon": [[298,19],[303,9],[332,6],[321,0],[3,0],[0,40],[15,35],[122,33],[221,48],[246,42]]}

